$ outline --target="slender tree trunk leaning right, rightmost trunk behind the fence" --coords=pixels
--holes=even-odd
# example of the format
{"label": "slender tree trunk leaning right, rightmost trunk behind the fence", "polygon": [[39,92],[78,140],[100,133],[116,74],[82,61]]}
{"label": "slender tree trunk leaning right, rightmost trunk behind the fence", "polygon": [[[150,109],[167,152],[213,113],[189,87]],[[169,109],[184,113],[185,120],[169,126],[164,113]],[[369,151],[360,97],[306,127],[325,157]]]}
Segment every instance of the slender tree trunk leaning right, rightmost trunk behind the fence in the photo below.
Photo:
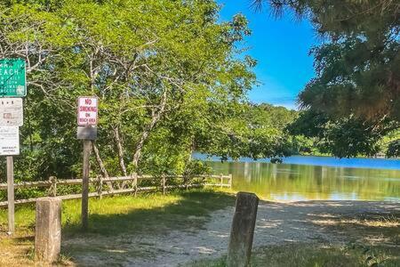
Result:
{"label": "slender tree trunk leaning right, rightmost trunk behind the fence", "polygon": [[148,125],[146,125],[143,133],[141,133],[139,142],[136,143],[136,149],[135,153],[132,158],[132,164],[136,168],[139,164],[140,156],[141,156],[141,150],[143,150],[143,145],[148,139],[148,135],[150,134],[151,130],[156,126],[157,122],[160,120],[162,117],[164,110],[165,110],[165,105],[166,105],[166,98],[167,98],[167,92],[166,89],[164,90],[163,96],[160,101],[159,109],[158,112],[155,110],[153,111],[151,121]]}

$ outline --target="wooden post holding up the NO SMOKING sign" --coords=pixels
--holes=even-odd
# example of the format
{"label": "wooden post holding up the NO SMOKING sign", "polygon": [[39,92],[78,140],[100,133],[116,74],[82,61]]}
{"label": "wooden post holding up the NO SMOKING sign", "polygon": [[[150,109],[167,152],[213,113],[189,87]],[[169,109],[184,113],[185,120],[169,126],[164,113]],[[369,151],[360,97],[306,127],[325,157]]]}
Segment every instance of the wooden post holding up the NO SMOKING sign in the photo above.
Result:
{"label": "wooden post holding up the NO SMOKING sign", "polygon": [[92,151],[92,141],[84,139],[84,172],[82,174],[82,229],[88,229],[88,209],[89,209],[89,172]]}

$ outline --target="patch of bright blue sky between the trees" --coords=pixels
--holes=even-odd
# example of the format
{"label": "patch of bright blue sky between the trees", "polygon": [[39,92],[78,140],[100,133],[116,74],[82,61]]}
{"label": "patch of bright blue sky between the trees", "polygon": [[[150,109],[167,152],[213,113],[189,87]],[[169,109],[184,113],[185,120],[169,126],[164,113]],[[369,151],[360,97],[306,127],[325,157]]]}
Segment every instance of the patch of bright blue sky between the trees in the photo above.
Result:
{"label": "patch of bright blue sky between the trees", "polygon": [[263,12],[254,12],[250,0],[218,3],[222,4],[220,20],[231,20],[241,12],[250,22],[252,36],[246,38],[245,46],[258,61],[254,70],[261,83],[249,93],[250,100],[295,109],[297,94],[314,77],[308,51],[318,38],[308,20],[295,21],[290,15],[272,18],[267,5]]}

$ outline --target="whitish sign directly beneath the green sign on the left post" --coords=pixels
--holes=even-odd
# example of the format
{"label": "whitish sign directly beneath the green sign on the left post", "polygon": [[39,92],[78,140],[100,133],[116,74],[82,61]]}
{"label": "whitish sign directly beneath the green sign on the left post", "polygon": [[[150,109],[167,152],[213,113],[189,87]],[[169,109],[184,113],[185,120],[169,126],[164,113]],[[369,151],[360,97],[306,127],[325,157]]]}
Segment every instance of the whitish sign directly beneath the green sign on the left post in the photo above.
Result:
{"label": "whitish sign directly beneath the green sign on the left post", "polygon": [[22,126],[24,124],[21,98],[0,99],[0,126]]}

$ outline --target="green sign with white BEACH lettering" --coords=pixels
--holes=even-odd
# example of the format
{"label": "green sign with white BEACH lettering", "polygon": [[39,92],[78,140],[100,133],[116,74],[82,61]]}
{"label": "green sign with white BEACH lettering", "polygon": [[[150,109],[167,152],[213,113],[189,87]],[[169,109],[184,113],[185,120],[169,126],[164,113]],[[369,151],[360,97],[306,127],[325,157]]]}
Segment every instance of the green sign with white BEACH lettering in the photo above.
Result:
{"label": "green sign with white BEACH lettering", "polygon": [[27,95],[25,61],[22,59],[0,60],[0,97]]}

